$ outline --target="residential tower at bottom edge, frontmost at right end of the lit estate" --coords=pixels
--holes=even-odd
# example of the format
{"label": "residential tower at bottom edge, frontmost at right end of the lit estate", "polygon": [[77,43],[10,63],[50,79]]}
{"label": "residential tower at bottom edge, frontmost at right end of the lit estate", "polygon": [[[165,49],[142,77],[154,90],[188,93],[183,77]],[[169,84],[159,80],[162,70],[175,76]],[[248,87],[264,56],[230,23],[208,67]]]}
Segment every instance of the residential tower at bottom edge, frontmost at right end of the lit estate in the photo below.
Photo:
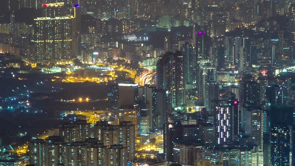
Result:
{"label": "residential tower at bottom edge, frontmost at right end of the lit estate", "polygon": [[127,165],[126,148],[121,144],[113,144],[107,148],[106,166]]}

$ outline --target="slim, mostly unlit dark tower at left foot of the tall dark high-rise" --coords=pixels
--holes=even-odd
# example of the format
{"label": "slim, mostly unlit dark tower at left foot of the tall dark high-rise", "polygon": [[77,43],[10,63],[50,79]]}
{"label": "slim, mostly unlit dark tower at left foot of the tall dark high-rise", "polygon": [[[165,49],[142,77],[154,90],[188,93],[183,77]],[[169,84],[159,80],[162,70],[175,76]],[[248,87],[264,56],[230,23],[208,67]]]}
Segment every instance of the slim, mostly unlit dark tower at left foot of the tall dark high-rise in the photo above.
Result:
{"label": "slim, mostly unlit dark tower at left foot of the tall dark high-rise", "polygon": [[168,123],[167,93],[164,89],[155,90],[156,128],[162,129]]}

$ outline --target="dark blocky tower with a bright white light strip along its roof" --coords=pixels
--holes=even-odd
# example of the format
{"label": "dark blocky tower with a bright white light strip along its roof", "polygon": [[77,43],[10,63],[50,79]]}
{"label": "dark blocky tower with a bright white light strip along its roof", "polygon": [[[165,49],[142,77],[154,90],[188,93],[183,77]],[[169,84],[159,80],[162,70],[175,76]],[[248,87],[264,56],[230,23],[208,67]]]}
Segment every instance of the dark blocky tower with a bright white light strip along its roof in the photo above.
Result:
{"label": "dark blocky tower with a bright white light strip along its roof", "polygon": [[118,83],[119,107],[138,108],[138,84]]}

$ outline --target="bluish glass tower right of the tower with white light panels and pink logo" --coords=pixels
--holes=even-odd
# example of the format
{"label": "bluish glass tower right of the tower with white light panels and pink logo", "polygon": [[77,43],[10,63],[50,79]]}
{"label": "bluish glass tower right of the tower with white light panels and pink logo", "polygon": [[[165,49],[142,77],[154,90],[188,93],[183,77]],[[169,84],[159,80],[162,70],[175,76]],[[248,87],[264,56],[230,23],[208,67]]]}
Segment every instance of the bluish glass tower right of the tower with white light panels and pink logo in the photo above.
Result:
{"label": "bluish glass tower right of the tower with white light panels and pink logo", "polygon": [[266,110],[248,109],[245,112],[245,132],[249,135],[251,142],[263,150],[263,128],[266,127]]}

